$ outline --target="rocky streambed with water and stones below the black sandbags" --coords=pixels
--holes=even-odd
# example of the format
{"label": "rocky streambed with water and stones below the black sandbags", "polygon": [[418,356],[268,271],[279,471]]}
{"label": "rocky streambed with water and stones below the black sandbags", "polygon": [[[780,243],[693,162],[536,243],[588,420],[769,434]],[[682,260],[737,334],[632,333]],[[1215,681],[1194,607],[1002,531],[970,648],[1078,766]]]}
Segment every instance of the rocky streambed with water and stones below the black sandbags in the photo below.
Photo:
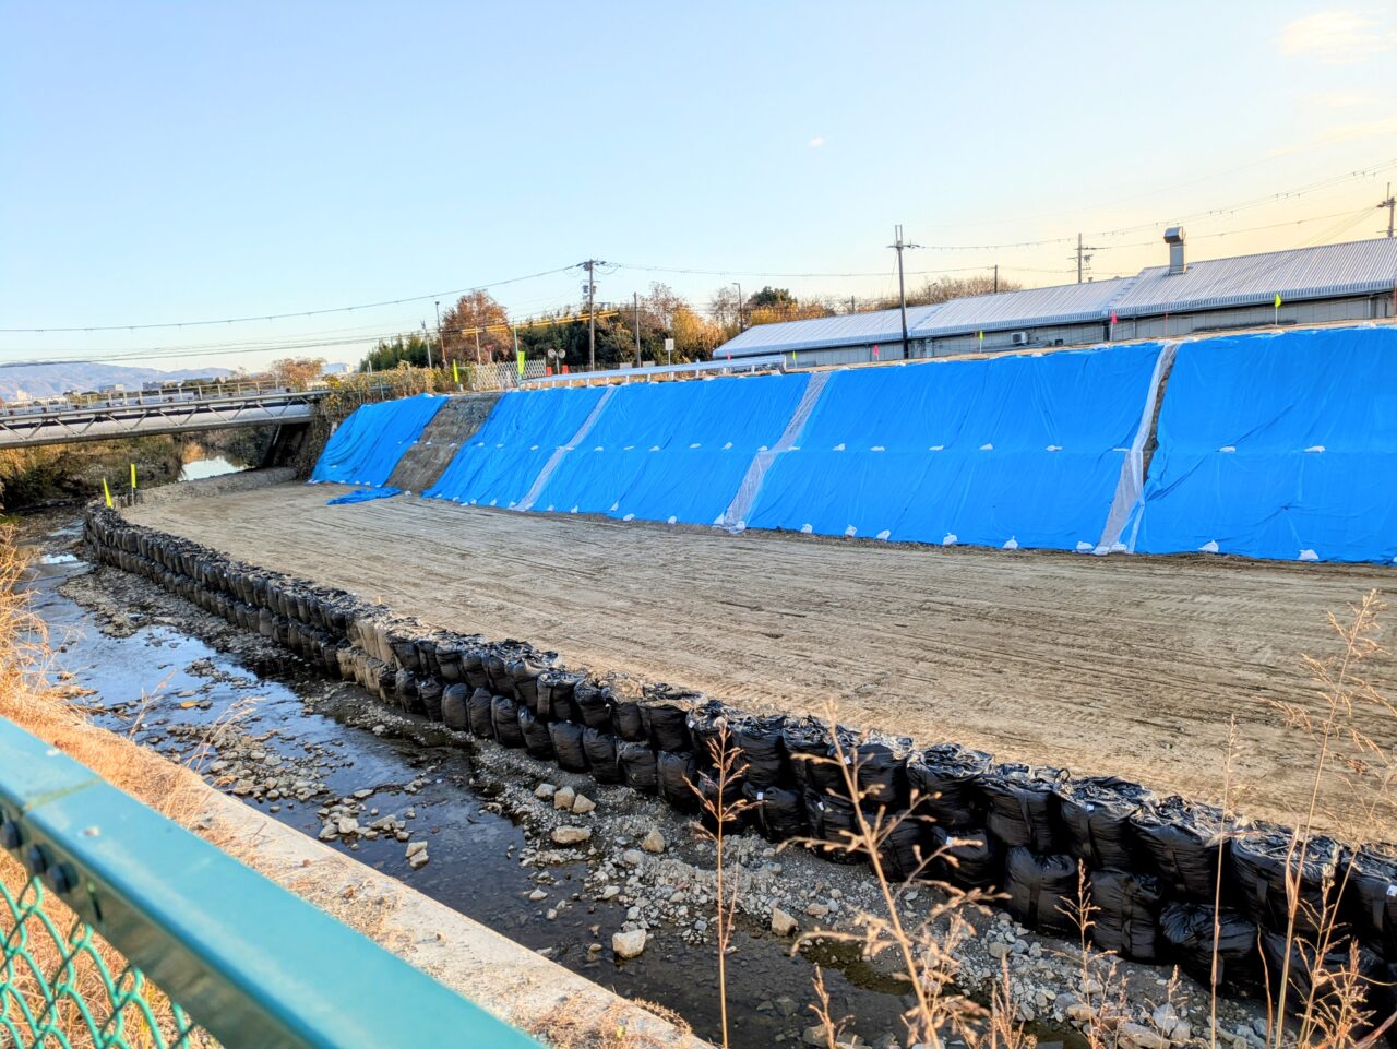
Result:
{"label": "rocky streambed with water and stones below the black sandbags", "polygon": [[[423,718],[390,708],[355,684],[326,677],[299,656],[240,631],[147,580],[82,560],[80,522],[28,522],[41,557],[35,608],[49,624],[54,675],[74,701],[112,731],[130,735],[307,835],[346,851],[423,894],[539,951],[617,993],[665,1006],[708,1039],[718,1036],[712,930],[712,848],[657,799],[599,786],[587,775],[534,761],[524,751],[476,744]],[[573,788],[595,802],[585,816],[559,812],[542,785]],[[583,848],[557,848],[552,828],[592,831]],[[661,852],[643,851],[658,831]],[[427,862],[408,851],[426,844]],[[862,867],[777,851],[754,835],[729,839],[740,865],[743,914],[729,957],[732,1045],[802,1042],[814,1022],[810,981],[824,969],[847,1038],[901,1043],[905,989],[856,948],[817,941],[792,953],[770,932],[771,907],[802,927],[837,926],[877,912]],[[908,912],[925,907],[912,894]],[[647,926],[638,958],[620,961],[612,933]],[[1003,914],[974,919],[963,951],[965,989],[988,993],[999,958],[1016,960],[1020,1017],[1041,1043],[1084,1043],[1062,1017],[1071,1004],[1080,955],[1037,937]],[[1002,948],[995,944],[1003,944]],[[1125,965],[1130,996],[1148,1011],[1172,993],[1185,1011],[1206,1008],[1199,989],[1168,986],[1169,974]],[[1023,974],[1023,975],[1021,975]],[[1255,1008],[1229,1003],[1228,1028]]]}

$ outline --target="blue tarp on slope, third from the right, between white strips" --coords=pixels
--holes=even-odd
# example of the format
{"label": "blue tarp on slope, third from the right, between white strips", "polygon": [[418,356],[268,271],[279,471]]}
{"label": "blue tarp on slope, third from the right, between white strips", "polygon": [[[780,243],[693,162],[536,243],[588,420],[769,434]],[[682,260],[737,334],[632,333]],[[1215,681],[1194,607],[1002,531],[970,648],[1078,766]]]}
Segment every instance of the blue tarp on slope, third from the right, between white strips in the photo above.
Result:
{"label": "blue tarp on slope, third from the right, between white strips", "polygon": [[809,376],[617,387],[535,510],[714,524],[753,457],[775,444]]}

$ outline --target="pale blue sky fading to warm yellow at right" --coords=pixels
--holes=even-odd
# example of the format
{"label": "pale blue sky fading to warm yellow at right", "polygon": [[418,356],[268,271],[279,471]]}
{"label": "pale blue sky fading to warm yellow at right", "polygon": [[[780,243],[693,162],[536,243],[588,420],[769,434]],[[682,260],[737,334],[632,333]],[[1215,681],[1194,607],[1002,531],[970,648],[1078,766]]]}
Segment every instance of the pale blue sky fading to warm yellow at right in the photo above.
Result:
{"label": "pale blue sky fading to warm yellow at right", "polygon": [[1377,236],[1394,96],[1397,0],[0,0],[0,362],[355,362],[585,258],[873,299],[895,223],[909,285]]}

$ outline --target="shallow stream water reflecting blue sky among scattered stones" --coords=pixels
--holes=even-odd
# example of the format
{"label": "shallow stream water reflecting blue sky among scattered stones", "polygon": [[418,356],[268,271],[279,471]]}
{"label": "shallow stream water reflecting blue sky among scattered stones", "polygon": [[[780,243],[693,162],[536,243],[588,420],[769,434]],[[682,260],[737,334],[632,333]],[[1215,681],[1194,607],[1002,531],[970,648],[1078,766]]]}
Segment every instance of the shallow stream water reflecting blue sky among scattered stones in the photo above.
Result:
{"label": "shallow stream water reflecting blue sky among scattered stones", "polygon": [[[73,529],[63,529],[71,536]],[[126,637],[105,634],[94,613],[59,592],[63,580],[88,571],[75,557],[46,557],[35,566],[35,610],[50,629],[50,643],[60,650],[54,673],[71,673],[71,683],[94,694],[80,703],[98,708],[95,719],[177,760],[196,749],[191,735],[201,735],[229,708],[250,712],[240,722],[250,736],[267,736],[260,746],[293,761],[319,765],[317,775],[328,795],[305,803],[272,803],[246,799],[281,823],[316,837],[323,826],[321,805],[373,788],[367,805],[381,814],[409,820],[414,839],[426,837],[432,860],[420,870],[407,865],[405,846],[391,838],[358,839],[355,846],[335,841],[331,848],[348,851],[360,862],[402,880],[420,893],[465,914],[532,950],[550,948],[550,957],[587,978],[636,999],[676,1010],[705,1038],[718,1034],[715,947],[693,946],[675,929],[651,930],[644,955],[630,962],[613,960],[610,933],[624,920],[626,908],[591,900],[588,893],[557,912],[555,920],[527,895],[538,887],[536,869],[515,859],[524,848],[524,832],[507,817],[490,812],[489,786],[472,782],[475,770],[469,751],[455,746],[426,746],[390,735],[377,736],[337,721],[335,708],[362,710],[379,704],[358,686],[331,682],[313,673],[293,656],[272,666],[249,666],[237,656],[219,652],[175,623],[196,623],[203,613],[183,619],[170,606],[166,623],[138,626]],[[159,595],[159,601],[172,598]],[[184,606],[187,608],[187,606]],[[144,616],[137,616],[141,622]],[[196,665],[191,672],[190,666]],[[187,731],[186,731],[187,729]],[[184,732],[184,735],[180,735]],[[212,761],[217,753],[204,760]],[[405,786],[420,778],[426,784],[408,793]],[[373,819],[373,817],[369,817]],[[511,849],[513,846],[513,849]],[[545,886],[549,901],[583,891],[588,863],[548,867],[555,884]],[[599,925],[599,934],[590,926]],[[591,958],[588,944],[601,941],[606,950]],[[729,1014],[732,1045],[743,1049],[789,1042],[813,1022],[806,1008],[812,1000],[813,967],[806,957],[789,957],[789,943],[764,929],[743,926],[733,936],[729,957]],[[845,953],[847,954],[847,953]],[[898,1031],[901,1008],[897,985],[856,957],[830,947],[819,960],[838,1015],[858,1015],[851,1029],[866,1039]],[[784,999],[784,1000],[782,1000]],[[782,1007],[785,1015],[782,1015]]]}

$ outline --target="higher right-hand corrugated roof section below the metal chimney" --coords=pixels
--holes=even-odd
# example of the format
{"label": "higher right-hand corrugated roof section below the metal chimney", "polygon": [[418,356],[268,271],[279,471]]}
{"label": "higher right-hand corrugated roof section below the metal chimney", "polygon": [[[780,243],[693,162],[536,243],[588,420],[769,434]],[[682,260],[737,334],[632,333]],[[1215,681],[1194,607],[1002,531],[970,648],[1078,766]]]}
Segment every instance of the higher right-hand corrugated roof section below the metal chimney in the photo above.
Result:
{"label": "higher right-hand corrugated roof section below the metal chimney", "polygon": [[1327,299],[1336,295],[1390,292],[1397,284],[1397,240],[1355,240],[1236,258],[1189,263],[1182,274],[1169,267],[1143,270],[1120,296],[1120,317],[1228,306]]}

